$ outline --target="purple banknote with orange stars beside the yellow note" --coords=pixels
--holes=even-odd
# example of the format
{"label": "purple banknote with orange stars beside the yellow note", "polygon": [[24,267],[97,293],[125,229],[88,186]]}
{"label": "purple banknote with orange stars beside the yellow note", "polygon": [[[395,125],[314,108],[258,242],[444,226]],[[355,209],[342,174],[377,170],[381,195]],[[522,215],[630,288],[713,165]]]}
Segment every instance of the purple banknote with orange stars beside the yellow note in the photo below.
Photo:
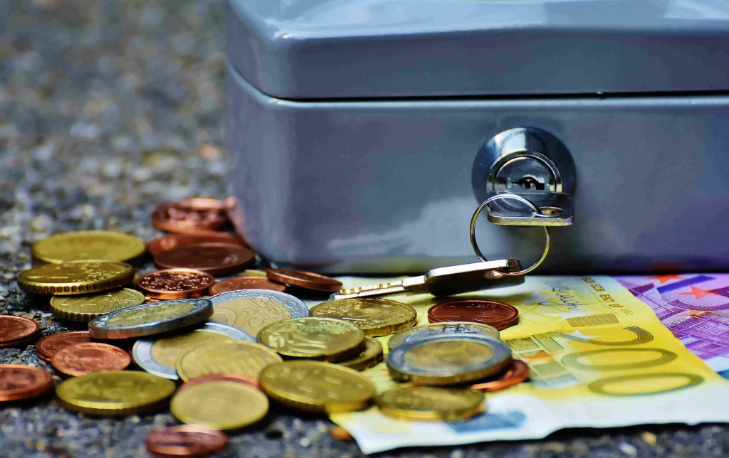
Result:
{"label": "purple banknote with orange stars beside the yellow note", "polygon": [[615,277],[690,352],[729,379],[729,274]]}

